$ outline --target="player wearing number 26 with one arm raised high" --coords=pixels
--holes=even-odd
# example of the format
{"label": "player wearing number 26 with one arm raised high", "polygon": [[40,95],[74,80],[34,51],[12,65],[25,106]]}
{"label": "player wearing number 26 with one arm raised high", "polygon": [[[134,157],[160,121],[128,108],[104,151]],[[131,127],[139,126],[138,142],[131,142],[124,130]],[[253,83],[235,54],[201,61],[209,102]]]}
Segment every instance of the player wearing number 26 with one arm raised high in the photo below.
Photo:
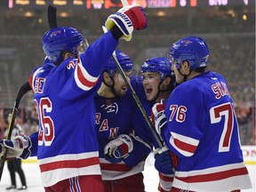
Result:
{"label": "player wearing number 26 with one arm raised high", "polygon": [[129,41],[133,29],[146,26],[143,9],[132,5],[111,14],[108,32],[89,47],[75,28],[47,31],[43,37],[47,60],[29,78],[39,132],[2,140],[1,156],[5,147],[7,158],[37,156],[46,192],[104,191],[93,97],[118,40]]}

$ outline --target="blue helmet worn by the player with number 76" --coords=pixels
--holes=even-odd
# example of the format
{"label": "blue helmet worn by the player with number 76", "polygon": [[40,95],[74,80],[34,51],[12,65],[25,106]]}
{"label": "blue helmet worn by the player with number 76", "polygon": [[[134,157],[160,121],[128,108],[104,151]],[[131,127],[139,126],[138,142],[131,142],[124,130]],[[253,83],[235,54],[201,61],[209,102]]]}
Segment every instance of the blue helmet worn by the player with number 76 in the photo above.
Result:
{"label": "blue helmet worn by the player with number 76", "polygon": [[182,62],[187,60],[189,67],[196,69],[207,66],[209,53],[203,38],[188,36],[172,44],[168,58],[175,62],[176,68],[180,68]]}

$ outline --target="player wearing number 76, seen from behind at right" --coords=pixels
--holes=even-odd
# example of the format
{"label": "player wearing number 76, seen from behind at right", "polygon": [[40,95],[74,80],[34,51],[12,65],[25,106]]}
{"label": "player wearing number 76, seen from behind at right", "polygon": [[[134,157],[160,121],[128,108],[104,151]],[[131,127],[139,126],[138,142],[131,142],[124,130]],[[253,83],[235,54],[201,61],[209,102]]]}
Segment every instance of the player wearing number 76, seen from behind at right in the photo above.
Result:
{"label": "player wearing number 76, seen from behind at right", "polygon": [[172,44],[169,59],[179,85],[165,108],[161,103],[152,108],[156,132],[179,156],[171,191],[252,188],[228,83],[205,70],[208,56],[201,37],[188,36]]}

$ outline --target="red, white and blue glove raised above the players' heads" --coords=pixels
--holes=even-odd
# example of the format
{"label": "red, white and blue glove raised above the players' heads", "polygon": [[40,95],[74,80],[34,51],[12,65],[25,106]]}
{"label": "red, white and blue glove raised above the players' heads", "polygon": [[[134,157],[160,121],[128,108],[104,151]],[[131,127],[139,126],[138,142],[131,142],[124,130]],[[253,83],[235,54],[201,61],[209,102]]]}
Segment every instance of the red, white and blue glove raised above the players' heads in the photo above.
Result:
{"label": "red, white and blue glove raised above the players' heads", "polygon": [[124,6],[122,9],[111,14],[106,20],[105,26],[110,30],[117,26],[123,33],[121,39],[130,41],[133,29],[142,30],[147,27],[147,17],[143,8],[139,5]]}

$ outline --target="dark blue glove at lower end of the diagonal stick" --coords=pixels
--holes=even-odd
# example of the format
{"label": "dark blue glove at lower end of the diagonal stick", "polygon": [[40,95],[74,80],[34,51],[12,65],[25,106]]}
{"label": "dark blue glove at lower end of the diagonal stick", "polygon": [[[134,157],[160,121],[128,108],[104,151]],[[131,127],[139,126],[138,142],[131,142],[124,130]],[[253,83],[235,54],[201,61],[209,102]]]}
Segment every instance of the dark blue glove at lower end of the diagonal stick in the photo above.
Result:
{"label": "dark blue glove at lower end of the diagonal stick", "polygon": [[164,148],[156,148],[155,154],[155,168],[158,172],[164,174],[173,174],[177,167],[178,156],[173,154],[167,146]]}

